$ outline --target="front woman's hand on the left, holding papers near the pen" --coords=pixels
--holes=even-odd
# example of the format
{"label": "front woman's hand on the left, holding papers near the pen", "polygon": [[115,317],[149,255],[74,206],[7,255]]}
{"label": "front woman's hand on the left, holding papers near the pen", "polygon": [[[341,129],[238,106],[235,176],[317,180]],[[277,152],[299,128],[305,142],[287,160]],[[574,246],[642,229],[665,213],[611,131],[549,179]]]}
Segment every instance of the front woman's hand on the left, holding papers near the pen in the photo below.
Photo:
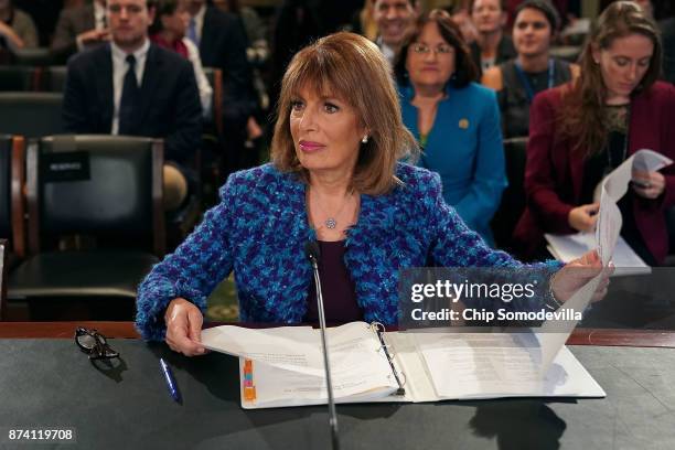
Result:
{"label": "front woman's hand on the left, holding papers near the pen", "polygon": [[174,352],[185,356],[203,355],[206,349],[202,345],[202,311],[194,303],[178,298],[171,300],[164,314],[167,323],[167,344]]}

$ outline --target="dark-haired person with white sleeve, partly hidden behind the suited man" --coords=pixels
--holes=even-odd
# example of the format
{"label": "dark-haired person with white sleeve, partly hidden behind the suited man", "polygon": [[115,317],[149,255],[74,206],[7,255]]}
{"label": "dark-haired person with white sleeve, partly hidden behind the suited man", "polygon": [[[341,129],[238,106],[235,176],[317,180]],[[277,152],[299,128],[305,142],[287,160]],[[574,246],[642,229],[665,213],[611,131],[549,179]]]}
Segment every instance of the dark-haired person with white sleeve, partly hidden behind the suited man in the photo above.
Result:
{"label": "dark-haired person with white sleeve, partly hidden behind the suited man", "polygon": [[200,89],[202,113],[205,118],[208,118],[211,117],[213,88],[204,74],[200,50],[185,38],[189,23],[188,0],[158,0],[154,22],[150,26],[150,40],[161,47],[173,50],[192,63]]}

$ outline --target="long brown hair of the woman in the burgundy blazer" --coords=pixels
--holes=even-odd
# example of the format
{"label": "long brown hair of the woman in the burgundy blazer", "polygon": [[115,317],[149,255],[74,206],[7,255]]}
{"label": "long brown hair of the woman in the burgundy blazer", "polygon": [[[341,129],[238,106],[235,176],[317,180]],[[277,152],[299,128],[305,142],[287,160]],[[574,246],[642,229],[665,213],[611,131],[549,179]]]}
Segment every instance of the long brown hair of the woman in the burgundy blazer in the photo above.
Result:
{"label": "long brown hair of the woman in the burgundy blazer", "polygon": [[654,53],[644,77],[632,94],[649,89],[658,78],[662,44],[656,24],[632,1],[610,4],[598,19],[581,53],[579,79],[562,94],[562,108],[558,119],[562,136],[578,142],[576,149],[587,148],[590,153],[602,151],[607,144],[608,130],[603,108],[608,93],[600,65],[593,60],[593,49],[608,49],[615,39],[635,33],[652,40]]}

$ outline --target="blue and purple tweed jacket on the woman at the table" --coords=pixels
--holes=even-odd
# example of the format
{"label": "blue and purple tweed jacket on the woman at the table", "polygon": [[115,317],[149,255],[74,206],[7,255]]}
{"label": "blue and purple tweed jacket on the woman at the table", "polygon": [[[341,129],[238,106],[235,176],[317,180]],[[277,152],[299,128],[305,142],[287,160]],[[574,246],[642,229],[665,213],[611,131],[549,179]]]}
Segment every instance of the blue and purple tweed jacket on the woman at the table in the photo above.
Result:
{"label": "blue and purple tweed jacket on the woman at the table", "polygon": [[[438,174],[399,163],[397,176],[404,185],[389,194],[361,196],[358,222],[345,243],[345,265],[366,321],[397,322],[399,269],[430,261],[521,266],[467,228],[444,203]],[[304,244],[315,238],[304,195],[304,183],[270,164],[229,176],[221,203],[141,283],[136,318],[141,335],[164,339],[163,312],[176,297],[205,311],[207,296],[233,269],[243,321],[300,322],[312,282]]]}

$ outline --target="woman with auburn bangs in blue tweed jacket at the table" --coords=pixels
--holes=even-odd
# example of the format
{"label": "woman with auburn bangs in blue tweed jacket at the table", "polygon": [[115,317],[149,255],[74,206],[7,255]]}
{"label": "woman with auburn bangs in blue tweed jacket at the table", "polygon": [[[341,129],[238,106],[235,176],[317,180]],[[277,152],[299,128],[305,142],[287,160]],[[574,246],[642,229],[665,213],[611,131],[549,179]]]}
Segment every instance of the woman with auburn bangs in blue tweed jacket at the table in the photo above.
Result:
{"label": "woman with auburn bangs in blue tweed jacket at the table", "polygon": [[[338,33],[299,52],[282,82],[272,163],[233,174],[221,203],[152,269],[137,301],[142,336],[204,353],[206,297],[232,270],[243,321],[315,320],[304,257],[313,239],[328,321],[396,323],[403,268],[521,266],[464,226],[438,174],[397,162],[415,148],[372,42]],[[556,276],[559,300],[586,281],[572,278]]]}

